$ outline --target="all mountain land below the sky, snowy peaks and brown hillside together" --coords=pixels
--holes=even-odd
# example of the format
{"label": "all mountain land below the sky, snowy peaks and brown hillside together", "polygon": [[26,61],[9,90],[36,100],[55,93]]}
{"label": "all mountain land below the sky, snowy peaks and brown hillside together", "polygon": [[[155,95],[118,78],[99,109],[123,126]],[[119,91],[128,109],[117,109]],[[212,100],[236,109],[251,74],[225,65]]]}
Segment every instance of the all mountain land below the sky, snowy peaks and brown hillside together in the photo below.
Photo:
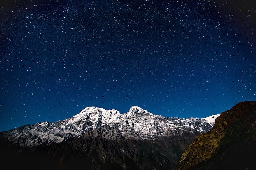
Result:
{"label": "all mountain land below the sky, snowy peaks and brown hillside together", "polygon": [[8,169],[255,169],[256,102],[188,119],[86,107],[0,132],[0,150]]}

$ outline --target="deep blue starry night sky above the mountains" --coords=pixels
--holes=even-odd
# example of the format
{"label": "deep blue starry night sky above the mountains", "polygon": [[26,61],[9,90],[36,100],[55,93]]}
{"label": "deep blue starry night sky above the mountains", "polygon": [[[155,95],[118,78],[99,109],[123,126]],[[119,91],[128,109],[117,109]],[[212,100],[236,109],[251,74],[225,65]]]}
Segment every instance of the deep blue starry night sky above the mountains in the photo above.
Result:
{"label": "deep blue starry night sky above the mountains", "polygon": [[202,118],[256,100],[252,2],[1,0],[0,131],[88,106]]}

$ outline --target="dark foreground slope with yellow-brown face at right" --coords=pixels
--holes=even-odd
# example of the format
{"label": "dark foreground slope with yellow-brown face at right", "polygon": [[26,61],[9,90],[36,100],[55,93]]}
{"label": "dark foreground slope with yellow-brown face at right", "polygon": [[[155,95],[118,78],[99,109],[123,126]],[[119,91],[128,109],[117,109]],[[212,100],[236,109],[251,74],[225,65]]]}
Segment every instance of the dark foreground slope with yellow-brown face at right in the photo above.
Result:
{"label": "dark foreground slope with yellow-brown face at right", "polygon": [[256,102],[240,102],[221,113],[213,129],[183,152],[177,169],[255,169]]}

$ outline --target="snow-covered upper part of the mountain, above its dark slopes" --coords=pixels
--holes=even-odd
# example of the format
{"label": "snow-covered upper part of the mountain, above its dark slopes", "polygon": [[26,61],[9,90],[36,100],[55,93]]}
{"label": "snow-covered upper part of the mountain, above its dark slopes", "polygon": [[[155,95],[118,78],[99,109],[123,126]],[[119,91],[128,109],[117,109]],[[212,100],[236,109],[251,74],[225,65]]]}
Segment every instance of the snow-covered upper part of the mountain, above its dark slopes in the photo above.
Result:
{"label": "snow-covered upper part of the mountain, above its dark slopes", "polygon": [[21,126],[4,131],[0,135],[16,145],[32,147],[60,143],[71,137],[82,136],[87,130],[108,125],[115,127],[126,138],[154,140],[165,136],[178,137],[184,132],[207,132],[212,129],[215,117],[216,115],[205,119],[170,118],[154,115],[138,106],[132,106],[127,113],[123,114],[115,109],[86,107],[80,113],[62,121]]}

